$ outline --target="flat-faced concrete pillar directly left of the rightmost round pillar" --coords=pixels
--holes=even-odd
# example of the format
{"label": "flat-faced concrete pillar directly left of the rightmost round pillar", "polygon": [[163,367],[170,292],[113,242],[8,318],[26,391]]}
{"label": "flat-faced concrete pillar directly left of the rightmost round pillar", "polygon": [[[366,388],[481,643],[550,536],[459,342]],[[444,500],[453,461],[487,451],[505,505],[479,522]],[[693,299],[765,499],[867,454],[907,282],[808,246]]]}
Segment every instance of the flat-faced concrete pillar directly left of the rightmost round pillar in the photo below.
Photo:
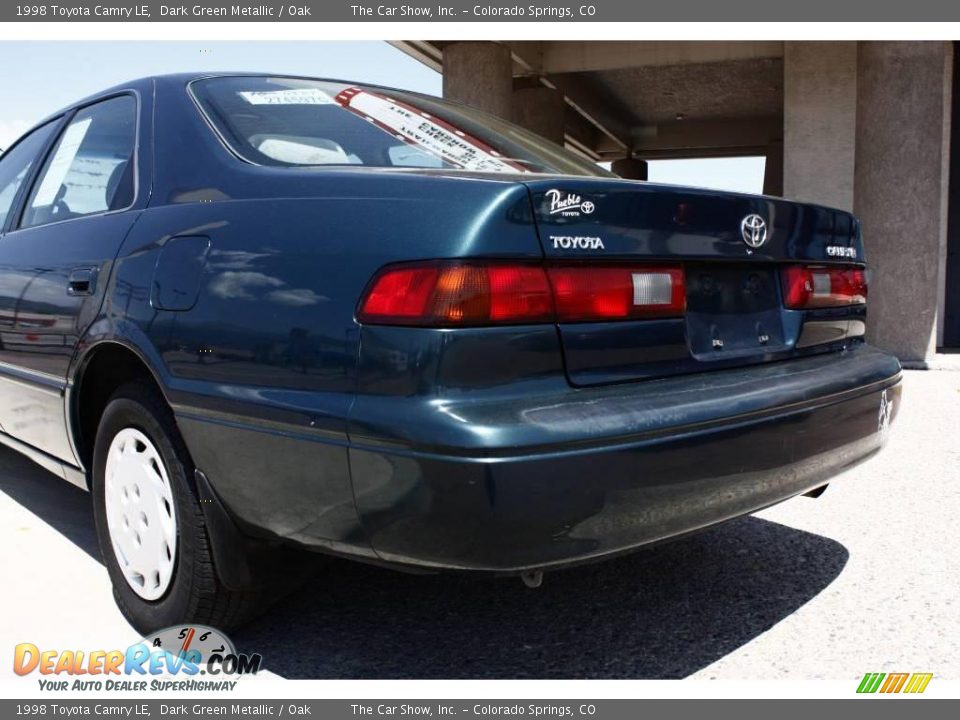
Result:
{"label": "flat-faced concrete pillar directly left of the rightmost round pillar", "polygon": [[783,195],[853,209],[857,43],[783,49]]}

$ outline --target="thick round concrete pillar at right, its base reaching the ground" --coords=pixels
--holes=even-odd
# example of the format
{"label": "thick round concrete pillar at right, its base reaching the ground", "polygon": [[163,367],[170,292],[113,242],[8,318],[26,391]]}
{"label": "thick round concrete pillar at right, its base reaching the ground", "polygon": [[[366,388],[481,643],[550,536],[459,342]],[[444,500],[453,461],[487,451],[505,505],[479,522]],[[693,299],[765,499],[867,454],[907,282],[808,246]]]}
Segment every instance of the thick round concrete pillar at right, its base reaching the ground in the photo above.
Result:
{"label": "thick round concrete pillar at right, its base reaching the ground", "polygon": [[952,46],[862,42],[854,210],[870,285],[868,340],[901,361],[935,351],[946,247]]}

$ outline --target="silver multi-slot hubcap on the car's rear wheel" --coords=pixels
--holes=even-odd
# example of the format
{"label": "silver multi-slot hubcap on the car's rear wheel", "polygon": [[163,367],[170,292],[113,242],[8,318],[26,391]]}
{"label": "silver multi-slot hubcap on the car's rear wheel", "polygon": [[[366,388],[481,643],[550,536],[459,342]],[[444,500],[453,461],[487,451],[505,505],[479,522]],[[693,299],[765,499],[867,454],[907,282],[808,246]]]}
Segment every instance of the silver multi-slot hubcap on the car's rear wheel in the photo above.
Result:
{"label": "silver multi-slot hubcap on the car's rear wheel", "polygon": [[163,596],[177,557],[173,491],[160,453],[146,435],[114,436],[104,478],[107,528],[127,584],[144,600]]}

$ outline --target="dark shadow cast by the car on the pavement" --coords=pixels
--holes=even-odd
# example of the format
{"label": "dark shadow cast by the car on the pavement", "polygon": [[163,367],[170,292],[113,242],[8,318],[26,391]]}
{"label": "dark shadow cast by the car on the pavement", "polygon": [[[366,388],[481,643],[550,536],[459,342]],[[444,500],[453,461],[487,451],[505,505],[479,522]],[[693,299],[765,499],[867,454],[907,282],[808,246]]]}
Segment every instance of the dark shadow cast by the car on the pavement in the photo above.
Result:
{"label": "dark shadow cast by the car on the pavement", "polygon": [[[0,492],[99,559],[87,493],[4,448]],[[847,559],[834,540],[746,517],[535,590],[333,561],[231,635],[289,678],[682,678],[802,607]]]}

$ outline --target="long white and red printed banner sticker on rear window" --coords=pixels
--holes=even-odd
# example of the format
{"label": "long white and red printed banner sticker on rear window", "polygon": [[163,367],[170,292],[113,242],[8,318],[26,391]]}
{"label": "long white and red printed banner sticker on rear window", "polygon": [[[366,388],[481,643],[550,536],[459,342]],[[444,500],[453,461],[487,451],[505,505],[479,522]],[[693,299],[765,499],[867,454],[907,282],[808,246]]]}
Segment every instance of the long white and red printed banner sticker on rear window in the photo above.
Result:
{"label": "long white and red printed banner sticker on rear window", "polygon": [[477,172],[525,172],[475,137],[411,105],[359,88],[347,88],[337,102],[409,145],[444,161]]}

